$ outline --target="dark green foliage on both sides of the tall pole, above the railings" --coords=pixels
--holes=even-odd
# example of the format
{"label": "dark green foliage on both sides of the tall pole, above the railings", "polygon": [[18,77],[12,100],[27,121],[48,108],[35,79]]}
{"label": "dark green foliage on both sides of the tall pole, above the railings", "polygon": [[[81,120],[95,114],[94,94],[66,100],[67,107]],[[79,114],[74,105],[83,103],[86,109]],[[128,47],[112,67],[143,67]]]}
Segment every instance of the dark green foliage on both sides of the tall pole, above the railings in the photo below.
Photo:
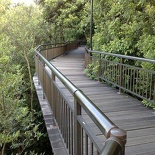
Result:
{"label": "dark green foliage on both sides of the tall pole, above the railings", "polygon": [[[55,42],[86,38],[90,33],[90,1],[40,0]],[[154,58],[155,2],[94,0],[93,49]],[[53,41],[54,41],[53,40]]]}

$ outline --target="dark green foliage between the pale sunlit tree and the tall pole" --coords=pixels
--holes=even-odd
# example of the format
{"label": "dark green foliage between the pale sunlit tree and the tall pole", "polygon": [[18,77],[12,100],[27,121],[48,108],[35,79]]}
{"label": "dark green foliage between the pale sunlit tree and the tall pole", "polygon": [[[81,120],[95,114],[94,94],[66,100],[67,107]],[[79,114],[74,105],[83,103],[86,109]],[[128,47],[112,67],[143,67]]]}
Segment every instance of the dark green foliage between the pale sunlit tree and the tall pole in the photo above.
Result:
{"label": "dark green foliage between the pale sunlit tree and the tall pole", "polygon": [[85,39],[89,23],[88,0],[40,0],[44,19],[51,28],[52,42]]}

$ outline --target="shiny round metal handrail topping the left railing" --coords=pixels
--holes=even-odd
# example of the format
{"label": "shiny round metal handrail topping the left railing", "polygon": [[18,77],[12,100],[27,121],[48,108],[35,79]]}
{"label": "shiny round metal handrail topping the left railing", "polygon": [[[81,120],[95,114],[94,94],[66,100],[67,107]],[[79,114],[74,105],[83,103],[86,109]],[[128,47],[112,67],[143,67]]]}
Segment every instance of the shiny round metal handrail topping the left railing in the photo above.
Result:
{"label": "shiny round metal handrail topping the left railing", "polygon": [[[57,77],[64,84],[64,86],[70,91],[70,93],[74,96],[74,99],[75,99],[74,115],[75,115],[76,121],[80,121],[80,120],[78,120],[78,116],[81,114],[78,112],[79,110],[76,109],[80,106],[86,111],[86,113],[89,115],[89,117],[94,121],[94,123],[98,126],[98,128],[101,130],[101,132],[105,135],[105,137],[107,138],[107,143],[109,141],[113,141],[114,143],[117,144],[117,147],[116,147],[117,151],[119,150],[118,151],[119,153],[124,154],[123,152],[124,152],[125,143],[126,143],[126,132],[124,130],[120,129],[119,127],[117,127],[79,88],[77,88],[67,77],[65,77],[55,66],[53,66],[40,53],[42,50],[46,50],[46,48],[45,49],[41,49],[41,48],[47,47],[47,45],[49,45],[49,44],[39,45],[35,49],[37,61],[38,62],[42,61],[43,62],[42,64],[44,65],[44,67],[48,67],[50,69],[50,71],[52,72],[52,77],[54,76],[52,78],[53,84],[55,84],[55,77]],[[50,44],[50,46],[51,46],[51,44]],[[44,80],[42,80],[42,85],[43,84],[44,84]],[[53,106],[53,107],[55,107],[55,106]],[[76,111],[77,111],[77,113],[76,113]],[[78,126],[78,123],[77,123],[77,125],[75,123],[75,128],[76,128],[76,126]],[[76,129],[75,129],[75,132],[76,132]],[[78,130],[78,132],[79,132],[78,134],[80,134],[79,130]],[[74,137],[75,140],[78,139],[78,135],[74,135],[74,136],[75,136]],[[75,142],[75,146],[74,146],[75,154],[78,155],[79,149],[77,149],[76,147],[79,147],[79,146],[76,143],[77,142]],[[111,145],[111,143],[110,143],[110,145]],[[109,146],[106,145],[105,149],[107,150],[108,147]],[[104,152],[104,151],[102,150],[102,152]],[[106,155],[105,153],[102,153],[102,152],[100,152],[100,154]],[[116,152],[113,152],[111,155],[116,155]]]}

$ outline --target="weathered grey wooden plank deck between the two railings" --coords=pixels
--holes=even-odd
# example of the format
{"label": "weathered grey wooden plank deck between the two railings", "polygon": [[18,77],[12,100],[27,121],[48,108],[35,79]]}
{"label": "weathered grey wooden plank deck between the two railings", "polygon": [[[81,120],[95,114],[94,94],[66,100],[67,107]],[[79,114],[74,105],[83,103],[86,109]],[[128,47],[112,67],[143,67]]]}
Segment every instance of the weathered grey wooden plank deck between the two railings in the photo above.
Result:
{"label": "weathered grey wooden plank deck between the two railings", "polygon": [[[79,47],[51,62],[117,126],[127,131],[126,155],[155,155],[155,111],[126,94],[119,95],[115,88],[88,79],[84,74],[83,51]],[[69,96],[67,91],[66,94]],[[92,122],[89,124],[93,127]],[[102,139],[103,136],[97,132]]]}

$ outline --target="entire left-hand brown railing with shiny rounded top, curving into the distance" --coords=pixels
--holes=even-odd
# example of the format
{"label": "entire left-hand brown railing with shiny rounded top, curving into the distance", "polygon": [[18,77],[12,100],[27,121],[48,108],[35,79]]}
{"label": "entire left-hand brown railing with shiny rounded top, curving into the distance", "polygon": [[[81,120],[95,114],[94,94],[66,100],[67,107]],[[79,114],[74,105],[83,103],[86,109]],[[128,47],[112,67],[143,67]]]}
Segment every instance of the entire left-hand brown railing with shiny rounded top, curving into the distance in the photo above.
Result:
{"label": "entire left-hand brown railing with shiny rounded top, curving into the distance", "polygon": [[[117,127],[95,104],[71,81],[69,81],[48,60],[59,56],[77,44],[40,45],[35,50],[35,66],[39,83],[42,85],[44,97],[48,100],[55,124],[58,125],[66,144],[68,154],[71,155],[124,155],[126,132]],[[53,54],[52,54],[53,53]],[[59,83],[66,87],[74,98],[72,103],[61,89]],[[90,119],[105,136],[105,143],[100,142],[94,131],[83,117],[87,113]]]}

